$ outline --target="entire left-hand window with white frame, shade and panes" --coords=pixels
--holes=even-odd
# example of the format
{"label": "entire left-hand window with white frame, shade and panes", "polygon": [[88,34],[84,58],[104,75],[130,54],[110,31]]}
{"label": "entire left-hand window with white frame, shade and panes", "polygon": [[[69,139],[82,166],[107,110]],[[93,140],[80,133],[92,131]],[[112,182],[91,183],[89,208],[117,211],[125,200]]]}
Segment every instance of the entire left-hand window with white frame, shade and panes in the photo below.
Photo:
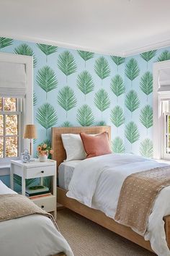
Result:
{"label": "entire left-hand window with white frame, shade and panes", "polygon": [[32,56],[0,53],[0,169],[29,148],[22,136],[33,122],[32,80]]}

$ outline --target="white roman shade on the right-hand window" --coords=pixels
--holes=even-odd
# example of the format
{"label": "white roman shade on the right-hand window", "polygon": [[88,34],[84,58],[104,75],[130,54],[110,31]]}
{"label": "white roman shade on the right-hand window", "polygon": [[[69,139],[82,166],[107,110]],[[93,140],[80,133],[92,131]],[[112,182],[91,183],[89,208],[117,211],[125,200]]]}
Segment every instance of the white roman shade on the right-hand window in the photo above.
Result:
{"label": "white roman shade on the right-hand window", "polygon": [[170,68],[158,71],[158,93],[170,91]]}

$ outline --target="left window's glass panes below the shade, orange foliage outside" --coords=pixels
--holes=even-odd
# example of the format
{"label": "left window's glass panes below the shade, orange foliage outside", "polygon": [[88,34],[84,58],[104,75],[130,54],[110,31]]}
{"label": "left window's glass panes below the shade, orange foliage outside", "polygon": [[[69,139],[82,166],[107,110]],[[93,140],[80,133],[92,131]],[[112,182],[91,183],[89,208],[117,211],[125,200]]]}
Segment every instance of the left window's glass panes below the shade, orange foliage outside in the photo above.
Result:
{"label": "left window's glass panes below the shade, orange foliage outside", "polygon": [[21,153],[21,99],[0,98],[0,158],[17,158]]}

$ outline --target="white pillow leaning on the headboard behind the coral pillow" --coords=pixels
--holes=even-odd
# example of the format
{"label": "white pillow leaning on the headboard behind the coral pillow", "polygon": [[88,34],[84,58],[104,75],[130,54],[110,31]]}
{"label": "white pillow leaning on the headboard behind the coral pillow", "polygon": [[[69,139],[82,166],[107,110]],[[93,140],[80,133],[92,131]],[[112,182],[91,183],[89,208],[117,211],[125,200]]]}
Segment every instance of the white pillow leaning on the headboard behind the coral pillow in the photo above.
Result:
{"label": "white pillow leaning on the headboard behind the coral pillow", "polygon": [[86,158],[86,151],[80,135],[62,134],[63,147],[66,150],[67,158],[65,161],[83,160]]}

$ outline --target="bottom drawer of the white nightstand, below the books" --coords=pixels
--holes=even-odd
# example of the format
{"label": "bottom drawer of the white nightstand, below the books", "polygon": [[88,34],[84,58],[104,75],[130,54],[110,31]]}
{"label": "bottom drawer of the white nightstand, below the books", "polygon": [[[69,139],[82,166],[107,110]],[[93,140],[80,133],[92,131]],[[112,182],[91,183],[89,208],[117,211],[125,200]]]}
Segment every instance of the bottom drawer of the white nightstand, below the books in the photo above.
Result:
{"label": "bottom drawer of the white nightstand, below the books", "polygon": [[56,210],[56,197],[54,195],[42,197],[40,199],[32,200],[35,205],[46,210],[47,212],[53,212]]}

